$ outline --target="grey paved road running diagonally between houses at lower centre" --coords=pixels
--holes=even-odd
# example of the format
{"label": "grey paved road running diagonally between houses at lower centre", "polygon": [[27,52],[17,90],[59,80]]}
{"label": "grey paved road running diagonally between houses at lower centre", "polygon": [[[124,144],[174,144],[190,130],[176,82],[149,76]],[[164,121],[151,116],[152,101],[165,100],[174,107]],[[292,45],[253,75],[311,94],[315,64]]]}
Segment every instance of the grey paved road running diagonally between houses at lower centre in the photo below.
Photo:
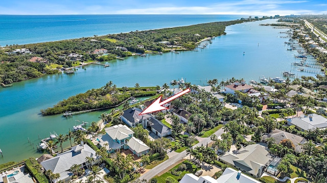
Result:
{"label": "grey paved road running diagonally between houses at lower centre", "polygon": [[[215,132],[215,134],[217,135],[217,137],[219,137],[221,134],[224,133],[223,128],[220,128],[217,130],[217,132]],[[210,137],[208,138],[198,138],[199,143],[195,144],[193,146],[193,148],[195,147],[199,147],[201,145],[206,145],[207,143],[209,144],[210,142],[212,142],[210,140]],[[172,158],[169,158],[167,161],[162,162],[161,164],[159,164],[158,166],[154,167],[153,169],[149,170],[148,172],[146,172],[145,174],[143,174],[141,177],[139,177],[139,179],[147,179],[150,180],[152,177],[154,177],[155,175],[157,175],[158,173],[160,173],[161,171],[166,170],[167,168],[174,165],[176,162],[178,162],[179,160],[185,158],[186,156],[186,150],[177,153],[176,155],[172,156]]]}

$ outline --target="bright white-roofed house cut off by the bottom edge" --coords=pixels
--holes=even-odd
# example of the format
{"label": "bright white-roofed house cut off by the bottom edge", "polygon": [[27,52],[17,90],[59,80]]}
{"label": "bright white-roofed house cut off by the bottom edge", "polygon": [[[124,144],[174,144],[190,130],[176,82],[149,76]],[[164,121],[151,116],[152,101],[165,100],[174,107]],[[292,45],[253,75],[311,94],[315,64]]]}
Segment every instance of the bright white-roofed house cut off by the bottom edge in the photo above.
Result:
{"label": "bright white-roofed house cut off by the bottom edge", "polygon": [[260,181],[255,180],[243,174],[241,171],[236,171],[232,168],[226,168],[223,174],[214,179],[211,176],[200,176],[197,177],[192,173],[186,173],[183,178],[179,181],[180,183],[260,183]]}

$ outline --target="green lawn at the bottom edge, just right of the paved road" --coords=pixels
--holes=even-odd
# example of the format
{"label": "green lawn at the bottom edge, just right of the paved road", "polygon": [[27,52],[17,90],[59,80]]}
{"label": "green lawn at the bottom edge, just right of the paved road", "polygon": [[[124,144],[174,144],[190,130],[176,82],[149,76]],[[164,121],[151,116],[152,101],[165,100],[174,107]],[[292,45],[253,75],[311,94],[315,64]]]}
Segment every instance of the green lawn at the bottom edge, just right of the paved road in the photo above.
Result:
{"label": "green lawn at the bottom edge, just right of the paved road", "polygon": [[[188,167],[187,170],[184,170],[181,172],[181,174],[179,176],[173,175],[171,173],[171,170],[174,168],[178,168],[181,164],[186,164],[186,167]],[[171,176],[173,178],[175,178],[177,181],[179,181],[186,173],[195,173],[196,171],[198,171],[200,168],[197,168],[192,162],[185,160],[182,163],[176,165],[174,168],[170,169],[169,171],[167,171],[166,173],[160,175],[160,176],[155,176],[155,178],[158,179],[158,183],[166,183],[166,178],[168,176]]]}

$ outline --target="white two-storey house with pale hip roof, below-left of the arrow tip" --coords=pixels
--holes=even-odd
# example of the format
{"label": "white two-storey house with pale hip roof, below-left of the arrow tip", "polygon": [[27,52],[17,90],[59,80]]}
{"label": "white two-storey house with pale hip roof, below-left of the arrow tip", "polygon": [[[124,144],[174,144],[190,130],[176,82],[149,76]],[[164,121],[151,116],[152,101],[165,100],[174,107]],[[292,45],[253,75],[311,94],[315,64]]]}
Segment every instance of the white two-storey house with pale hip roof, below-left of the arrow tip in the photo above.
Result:
{"label": "white two-storey house with pale hip roof, below-left of the arrow tip", "polygon": [[105,128],[106,134],[98,137],[99,145],[105,147],[108,153],[119,149],[130,149],[137,156],[149,152],[144,142],[133,137],[134,132],[126,125],[118,124]]}

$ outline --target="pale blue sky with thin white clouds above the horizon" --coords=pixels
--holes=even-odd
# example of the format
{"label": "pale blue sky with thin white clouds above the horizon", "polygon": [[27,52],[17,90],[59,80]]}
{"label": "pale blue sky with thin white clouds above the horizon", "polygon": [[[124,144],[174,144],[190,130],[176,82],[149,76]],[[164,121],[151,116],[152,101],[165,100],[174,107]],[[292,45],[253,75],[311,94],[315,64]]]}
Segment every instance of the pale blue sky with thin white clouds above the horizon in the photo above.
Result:
{"label": "pale blue sky with thin white clouds above the horizon", "polygon": [[0,14],[327,14],[326,0],[11,0],[0,4]]}

